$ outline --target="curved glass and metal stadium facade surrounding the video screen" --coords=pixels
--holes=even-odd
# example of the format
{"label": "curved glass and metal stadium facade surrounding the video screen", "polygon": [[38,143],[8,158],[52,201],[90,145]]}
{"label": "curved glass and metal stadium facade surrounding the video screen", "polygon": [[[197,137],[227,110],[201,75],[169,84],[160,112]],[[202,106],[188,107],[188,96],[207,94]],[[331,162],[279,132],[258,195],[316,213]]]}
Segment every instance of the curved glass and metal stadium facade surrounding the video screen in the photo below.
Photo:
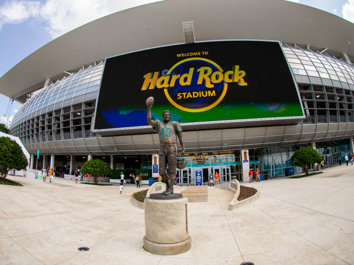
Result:
{"label": "curved glass and metal stadium facade surrounding the video screen", "polygon": [[[250,166],[268,176],[285,175],[292,153],[312,145],[329,166],[353,152],[354,67],[326,54],[282,46],[299,88],[306,118],[297,125],[187,131],[187,167],[179,181],[193,183],[195,170],[221,173],[221,181],[242,180],[241,149],[249,150]],[[21,139],[32,154],[31,168],[80,169],[91,158],[101,158],[116,169],[152,168],[159,140],[150,134],[101,137],[92,132],[97,91],[104,63],[72,73],[45,87],[23,104],[12,120],[10,134]],[[194,135],[197,135],[195,139]],[[187,135],[187,136],[185,136]],[[203,140],[200,140],[203,139]],[[40,159],[36,156],[39,150]],[[193,157],[204,154],[202,164]],[[71,168],[70,168],[71,167]],[[299,169],[296,169],[298,171]]]}

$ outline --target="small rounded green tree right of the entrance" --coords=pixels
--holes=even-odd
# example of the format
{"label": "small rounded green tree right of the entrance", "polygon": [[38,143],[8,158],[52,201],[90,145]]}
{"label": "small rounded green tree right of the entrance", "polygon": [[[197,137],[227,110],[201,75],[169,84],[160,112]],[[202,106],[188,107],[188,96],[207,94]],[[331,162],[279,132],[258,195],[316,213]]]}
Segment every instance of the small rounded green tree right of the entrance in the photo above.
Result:
{"label": "small rounded green tree right of the entrance", "polygon": [[309,173],[311,164],[320,163],[322,157],[310,146],[300,148],[290,158],[290,165],[302,167],[306,175]]}

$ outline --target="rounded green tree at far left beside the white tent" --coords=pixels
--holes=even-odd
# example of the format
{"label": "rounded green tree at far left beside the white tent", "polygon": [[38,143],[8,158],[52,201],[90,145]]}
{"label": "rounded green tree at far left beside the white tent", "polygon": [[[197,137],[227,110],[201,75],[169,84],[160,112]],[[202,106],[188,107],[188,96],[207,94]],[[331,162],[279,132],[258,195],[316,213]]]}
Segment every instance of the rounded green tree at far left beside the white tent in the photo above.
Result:
{"label": "rounded green tree at far left beside the white tent", "polygon": [[9,137],[0,137],[0,178],[4,181],[10,169],[21,170],[28,161],[21,147]]}

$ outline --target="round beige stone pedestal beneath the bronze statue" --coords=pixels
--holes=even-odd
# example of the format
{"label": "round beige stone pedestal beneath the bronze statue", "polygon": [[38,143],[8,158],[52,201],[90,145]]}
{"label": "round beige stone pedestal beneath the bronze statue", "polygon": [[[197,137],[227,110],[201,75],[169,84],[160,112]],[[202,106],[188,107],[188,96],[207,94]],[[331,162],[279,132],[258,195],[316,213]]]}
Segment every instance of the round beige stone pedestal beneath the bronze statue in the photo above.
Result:
{"label": "round beige stone pedestal beneath the bronze statue", "polygon": [[188,233],[187,203],[186,197],[167,200],[147,197],[144,200],[146,251],[157,255],[177,255],[190,249],[192,240]]}

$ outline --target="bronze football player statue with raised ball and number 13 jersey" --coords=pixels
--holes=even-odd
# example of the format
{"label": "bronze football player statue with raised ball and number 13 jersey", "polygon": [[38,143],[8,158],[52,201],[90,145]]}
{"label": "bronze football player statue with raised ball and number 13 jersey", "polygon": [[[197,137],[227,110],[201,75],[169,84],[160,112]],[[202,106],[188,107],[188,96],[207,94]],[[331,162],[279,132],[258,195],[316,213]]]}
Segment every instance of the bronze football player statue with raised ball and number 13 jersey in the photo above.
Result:
{"label": "bronze football player statue with raised ball and number 13 jersey", "polygon": [[[177,163],[177,136],[179,143],[182,145],[182,156],[184,155],[184,141],[182,136],[182,128],[179,122],[171,122],[170,111],[166,110],[162,114],[164,121],[151,119],[151,107],[154,104],[154,98],[150,97],[146,100],[148,106],[147,122],[159,133],[160,152],[159,152],[159,174],[166,183],[166,190],[162,192],[165,195],[173,194],[173,184],[176,180],[176,163]],[[170,181],[166,175],[166,166],[169,165]]]}

